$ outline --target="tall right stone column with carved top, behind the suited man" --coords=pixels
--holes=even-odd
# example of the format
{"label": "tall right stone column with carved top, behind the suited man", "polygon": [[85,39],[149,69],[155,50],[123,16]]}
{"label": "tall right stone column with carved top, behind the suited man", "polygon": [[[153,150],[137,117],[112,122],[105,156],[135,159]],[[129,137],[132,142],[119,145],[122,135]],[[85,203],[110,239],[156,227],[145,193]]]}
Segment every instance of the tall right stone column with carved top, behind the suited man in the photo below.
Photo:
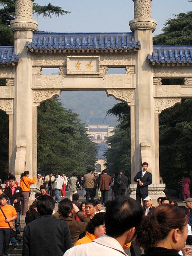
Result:
{"label": "tall right stone column with carved top, behind the suited man", "polygon": [[[133,1],[134,20],[131,20],[129,25],[131,31],[134,31],[135,40],[140,41],[141,49],[135,56],[135,151],[131,180],[133,181],[135,174],[142,169],[142,163],[148,162],[148,171],[152,173],[152,185],[155,190],[159,184],[158,116],[154,113],[153,67],[148,65],[146,56],[152,55],[153,52],[152,33],[156,28],[156,21],[151,19],[152,0]],[[137,186],[137,184],[132,185]],[[134,195],[131,194],[131,197]],[[156,197],[157,193],[154,192],[152,198],[156,199]]]}

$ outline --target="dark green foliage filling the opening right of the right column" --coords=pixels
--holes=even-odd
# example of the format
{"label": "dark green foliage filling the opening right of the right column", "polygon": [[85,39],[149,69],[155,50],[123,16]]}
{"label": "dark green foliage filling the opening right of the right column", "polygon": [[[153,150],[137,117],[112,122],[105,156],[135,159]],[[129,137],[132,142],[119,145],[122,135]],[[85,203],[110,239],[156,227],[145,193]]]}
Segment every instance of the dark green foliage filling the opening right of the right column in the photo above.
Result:
{"label": "dark green foliage filling the opening right of the right column", "polygon": [[183,172],[192,170],[192,100],[163,111],[159,124],[160,172],[174,189]]}

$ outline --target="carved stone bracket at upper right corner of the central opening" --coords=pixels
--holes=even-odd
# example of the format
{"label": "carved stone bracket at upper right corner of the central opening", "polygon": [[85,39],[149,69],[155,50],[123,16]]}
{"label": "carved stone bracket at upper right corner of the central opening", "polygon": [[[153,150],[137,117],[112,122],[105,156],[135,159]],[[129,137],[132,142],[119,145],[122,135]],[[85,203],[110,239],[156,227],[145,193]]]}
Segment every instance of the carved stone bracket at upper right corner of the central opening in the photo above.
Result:
{"label": "carved stone bracket at upper right corner of the central opening", "polygon": [[129,106],[134,105],[134,90],[106,90],[107,96],[113,96],[115,99],[127,102]]}

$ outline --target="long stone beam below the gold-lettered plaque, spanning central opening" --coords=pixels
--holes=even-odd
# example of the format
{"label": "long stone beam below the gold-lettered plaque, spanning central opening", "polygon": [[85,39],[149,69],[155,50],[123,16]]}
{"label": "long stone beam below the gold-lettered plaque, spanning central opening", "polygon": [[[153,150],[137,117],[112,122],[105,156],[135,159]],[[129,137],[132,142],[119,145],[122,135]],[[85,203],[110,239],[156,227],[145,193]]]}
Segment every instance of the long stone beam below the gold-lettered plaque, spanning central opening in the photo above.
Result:
{"label": "long stone beam below the gold-lettered plaque, spanning central opening", "polygon": [[135,88],[135,75],[32,75],[32,89],[105,90]]}

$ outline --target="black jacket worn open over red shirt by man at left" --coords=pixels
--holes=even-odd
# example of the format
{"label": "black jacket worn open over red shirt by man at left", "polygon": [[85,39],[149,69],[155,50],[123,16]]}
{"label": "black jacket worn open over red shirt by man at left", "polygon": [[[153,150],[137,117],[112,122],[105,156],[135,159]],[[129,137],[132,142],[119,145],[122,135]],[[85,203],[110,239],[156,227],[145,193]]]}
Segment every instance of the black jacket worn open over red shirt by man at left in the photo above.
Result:
{"label": "black jacket worn open over red shirt by man at left", "polygon": [[[3,192],[9,197],[10,204],[14,204],[16,212],[21,212],[20,202],[23,201],[23,189],[17,186],[15,188],[14,194],[12,194],[12,189],[6,187],[6,189]],[[17,199],[17,203],[13,203],[15,199]]]}

